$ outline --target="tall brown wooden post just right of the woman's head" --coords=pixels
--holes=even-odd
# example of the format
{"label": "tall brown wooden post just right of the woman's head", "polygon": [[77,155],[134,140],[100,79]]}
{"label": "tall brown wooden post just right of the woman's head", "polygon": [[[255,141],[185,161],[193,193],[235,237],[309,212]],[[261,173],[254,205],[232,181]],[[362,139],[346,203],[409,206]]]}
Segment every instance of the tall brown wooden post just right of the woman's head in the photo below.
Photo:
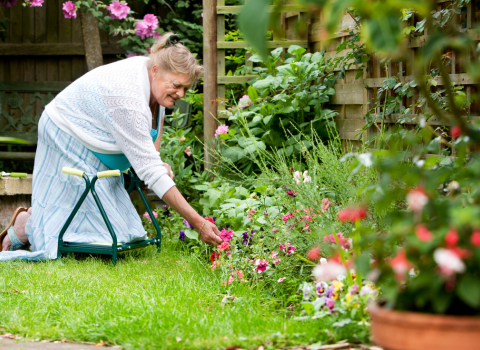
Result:
{"label": "tall brown wooden post just right of the woman's head", "polygon": [[203,0],[203,66],[205,168],[210,168],[217,129],[217,0]]}

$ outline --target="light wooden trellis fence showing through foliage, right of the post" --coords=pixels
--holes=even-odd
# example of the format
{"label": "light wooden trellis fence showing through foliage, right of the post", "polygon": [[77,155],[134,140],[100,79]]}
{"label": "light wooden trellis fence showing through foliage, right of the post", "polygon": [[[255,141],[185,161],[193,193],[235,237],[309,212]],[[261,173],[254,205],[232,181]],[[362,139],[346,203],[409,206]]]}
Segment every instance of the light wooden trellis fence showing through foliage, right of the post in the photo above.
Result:
{"label": "light wooden trellis fence showing through foliage, right of the post", "polygon": [[[286,1],[287,4],[291,4],[293,2],[290,0]],[[451,1],[439,0],[438,8],[445,8],[450,3]],[[220,113],[217,113],[217,108],[221,108],[221,106],[218,107],[216,101],[219,97],[224,97],[225,84],[245,83],[251,79],[251,77],[225,77],[224,50],[230,47],[246,47],[246,43],[244,42],[235,42],[234,44],[225,43],[223,37],[225,31],[225,27],[222,26],[223,16],[227,13],[238,13],[239,8],[236,6],[224,6],[223,0],[204,0],[204,5],[204,18],[210,18],[210,22],[205,21],[204,23],[213,23],[216,25],[215,29],[213,26],[211,26],[210,32],[206,32],[211,33],[211,36],[205,38],[205,40],[208,41],[208,45],[204,46],[204,62],[210,79],[208,81],[211,84],[209,86],[209,90],[205,90],[204,112],[206,123],[210,122],[213,125],[211,130],[209,130],[209,132],[211,132],[213,135],[213,127],[216,126],[213,120],[217,116],[221,116]],[[323,24],[322,14],[320,12],[306,13],[302,12],[301,8],[292,8],[283,13],[280,18],[281,26],[283,28],[282,39],[284,40],[279,41],[278,38],[274,38],[274,41],[269,42],[269,47],[288,47],[288,45],[293,43],[296,45],[306,44],[310,52],[326,49],[327,59],[336,55],[341,56],[346,53],[344,50],[337,54],[336,48],[340,43],[349,39],[350,34],[348,29],[353,28],[355,24],[352,17],[346,14],[340,23],[337,34],[331,38],[326,46],[324,46],[323,42],[320,40],[320,33]],[[463,23],[467,30],[471,30],[476,23],[480,23],[480,12],[477,10],[477,1],[470,1],[470,3],[467,5],[466,13],[460,15],[458,21],[458,23]],[[300,38],[298,36],[295,27],[299,22],[306,23],[308,33],[307,38]],[[416,19],[413,18],[410,22],[410,25],[415,26],[416,23]],[[301,41],[301,39],[304,41]],[[412,39],[409,42],[407,49],[413,56],[415,56],[416,50],[421,47],[424,40],[425,37],[421,36]],[[478,95],[478,86],[473,84],[473,82],[469,80],[468,76],[460,71],[454,52],[451,54],[451,60],[451,80],[458,85],[463,85],[468,97]],[[361,70],[363,70],[363,76],[355,80],[355,76]],[[372,102],[375,101],[378,88],[383,86],[383,82],[387,78],[387,74],[388,76],[393,76],[402,71],[403,73],[401,73],[401,80],[408,81],[411,79],[410,67],[406,66],[404,62],[392,62],[385,69],[385,67],[380,64],[380,59],[372,56],[365,68],[360,68],[358,65],[352,65],[350,69],[345,72],[345,78],[337,80],[337,83],[334,87],[335,95],[332,96],[331,103],[327,107],[338,112],[338,116],[335,118],[335,120],[339,130],[340,138],[343,140],[344,144],[348,142],[355,146],[358,144],[358,142],[360,142],[358,139],[358,130],[362,129],[366,124],[365,115],[371,108]],[[439,88],[442,84],[442,81],[439,80]],[[411,104],[411,102],[411,99],[404,99],[402,103],[407,105]],[[480,115],[480,104],[478,102],[472,103],[469,112],[473,120],[478,119],[477,116]],[[381,114],[382,111],[379,109],[377,110],[377,113]],[[418,111],[414,110],[413,113],[413,121],[409,123],[416,123],[419,119]],[[398,114],[388,116],[386,120],[387,123],[396,122],[396,120],[398,120],[398,116]],[[210,120],[207,120],[207,118]],[[440,121],[435,119],[435,117],[430,119],[429,122],[431,122],[433,125],[441,125]]]}

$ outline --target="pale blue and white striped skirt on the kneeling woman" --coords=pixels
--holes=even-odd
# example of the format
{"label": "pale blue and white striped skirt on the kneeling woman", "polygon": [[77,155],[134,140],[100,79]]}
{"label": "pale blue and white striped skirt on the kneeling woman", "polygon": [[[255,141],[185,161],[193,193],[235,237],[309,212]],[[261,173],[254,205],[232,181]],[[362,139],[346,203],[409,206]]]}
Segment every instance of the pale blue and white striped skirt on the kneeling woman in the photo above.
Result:
{"label": "pale blue and white striped skirt on the kneeling woman", "polygon": [[[85,171],[92,177],[110,170],[75,138],[60,130],[43,112],[38,125],[38,143],[33,170],[32,215],[25,233],[31,251],[1,252],[1,260],[46,260],[57,257],[58,235],[85,190],[85,181],[62,173],[63,167]],[[146,231],[127,191],[123,177],[102,178],[95,189],[117,235],[118,242],[146,238]],[[111,243],[112,237],[91,195],[68,227],[67,242]]]}

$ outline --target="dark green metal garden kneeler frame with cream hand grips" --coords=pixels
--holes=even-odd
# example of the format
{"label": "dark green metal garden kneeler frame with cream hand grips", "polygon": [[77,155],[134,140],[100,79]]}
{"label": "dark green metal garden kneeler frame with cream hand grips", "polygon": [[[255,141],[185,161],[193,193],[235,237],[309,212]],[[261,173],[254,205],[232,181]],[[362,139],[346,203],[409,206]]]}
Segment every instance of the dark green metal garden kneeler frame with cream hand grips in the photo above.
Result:
{"label": "dark green metal garden kneeler frame with cream hand grips", "polygon": [[[110,176],[120,176],[120,170],[107,170],[107,171],[99,172],[97,173],[97,175],[95,175],[92,178],[92,181],[90,181],[88,176],[82,170],[72,169],[72,168],[63,168],[62,172],[66,174],[74,175],[74,176],[83,177],[83,179],[85,180],[86,187],[85,187],[85,191],[80,197],[80,200],[75,205],[75,208],[73,209],[72,213],[70,214],[67,221],[63,225],[62,230],[60,231],[60,234],[58,236],[58,253],[57,253],[58,259],[61,259],[62,254],[64,253],[72,253],[72,252],[104,254],[104,255],[111,255],[112,263],[113,265],[115,265],[117,262],[117,254],[121,252],[144,248],[153,244],[157,245],[157,252],[160,251],[161,244],[162,244],[162,233],[160,230],[160,226],[158,225],[157,220],[153,216],[152,210],[148,205],[147,199],[145,198],[145,195],[142,192],[138,177],[132,172],[131,169],[128,170],[128,176],[131,179],[131,183],[127,191],[128,193],[130,193],[134,188],[137,189],[143,204],[147,208],[148,215],[150,215],[150,218],[152,219],[152,223],[155,226],[155,230],[157,231],[157,236],[155,238],[145,239],[143,241],[132,242],[132,243],[117,242],[117,235],[115,234],[112,224],[110,223],[110,220],[108,220],[107,214],[105,213],[105,209],[103,208],[103,205],[100,202],[100,198],[98,198],[97,192],[95,191],[95,183],[97,182],[98,179],[101,179],[104,177],[110,177]],[[95,203],[97,204],[98,209],[100,210],[100,214],[102,215],[103,220],[107,225],[108,232],[110,232],[110,235],[112,236],[112,244],[110,243],[74,243],[74,242],[65,242],[63,240],[63,235],[67,231],[68,226],[70,226],[70,223],[72,222],[73,218],[75,217],[78,210],[80,209],[80,206],[82,205],[85,198],[87,197],[88,192],[90,191],[92,192],[93,199],[95,200]]]}

